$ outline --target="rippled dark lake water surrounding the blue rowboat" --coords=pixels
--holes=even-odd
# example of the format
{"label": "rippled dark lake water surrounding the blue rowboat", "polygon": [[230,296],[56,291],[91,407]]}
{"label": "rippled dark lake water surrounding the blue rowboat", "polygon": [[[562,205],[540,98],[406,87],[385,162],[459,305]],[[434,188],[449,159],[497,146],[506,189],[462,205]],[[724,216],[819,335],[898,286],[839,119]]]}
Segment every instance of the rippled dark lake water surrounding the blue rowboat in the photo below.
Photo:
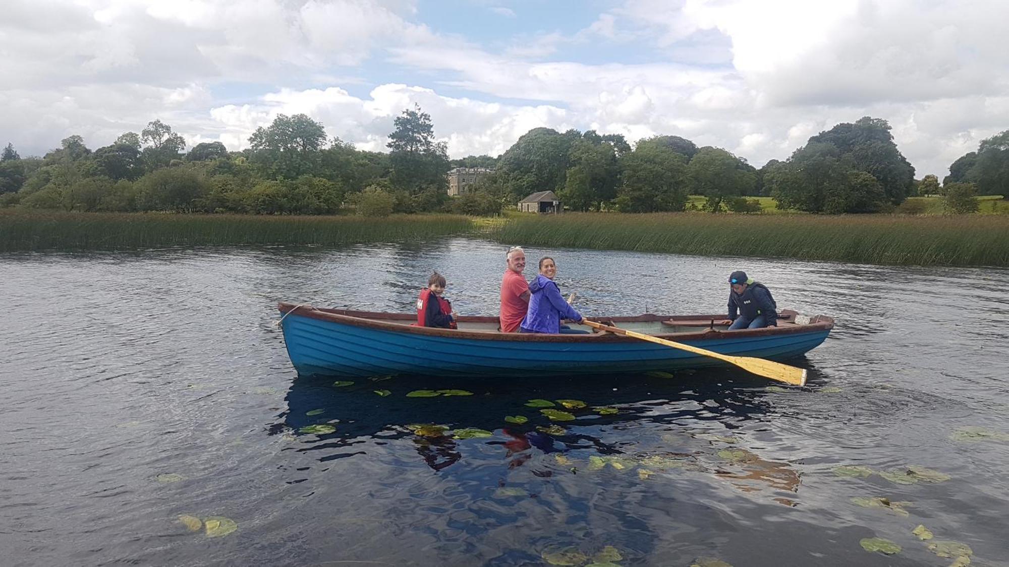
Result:
{"label": "rippled dark lake water surrounding the blue rowboat", "polygon": [[[437,268],[461,314],[492,315],[503,248],[0,255],[0,564],[951,563],[919,524],[1009,564],[1009,270],[527,249],[528,276],[544,253],[586,315],[717,313],[743,268],[836,327],[785,391],[737,369],[334,387],[293,371],[277,301],[409,312]],[[473,395],[405,396],[420,388]],[[531,399],[620,413],[543,432]],[[907,503],[853,501],[875,496]],[[873,537],[903,549],[864,551]]]}

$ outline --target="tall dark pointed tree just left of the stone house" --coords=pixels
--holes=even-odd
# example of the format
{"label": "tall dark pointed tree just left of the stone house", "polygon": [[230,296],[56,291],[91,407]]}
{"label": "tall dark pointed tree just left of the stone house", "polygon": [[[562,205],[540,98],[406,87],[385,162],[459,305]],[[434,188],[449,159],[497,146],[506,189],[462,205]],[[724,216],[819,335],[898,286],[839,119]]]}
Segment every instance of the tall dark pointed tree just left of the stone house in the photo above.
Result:
{"label": "tall dark pointed tree just left of the stone house", "polygon": [[448,180],[448,146],[435,141],[431,115],[420,105],[406,109],[394,120],[388,135],[389,181],[397,189],[416,195],[427,189],[444,191]]}

